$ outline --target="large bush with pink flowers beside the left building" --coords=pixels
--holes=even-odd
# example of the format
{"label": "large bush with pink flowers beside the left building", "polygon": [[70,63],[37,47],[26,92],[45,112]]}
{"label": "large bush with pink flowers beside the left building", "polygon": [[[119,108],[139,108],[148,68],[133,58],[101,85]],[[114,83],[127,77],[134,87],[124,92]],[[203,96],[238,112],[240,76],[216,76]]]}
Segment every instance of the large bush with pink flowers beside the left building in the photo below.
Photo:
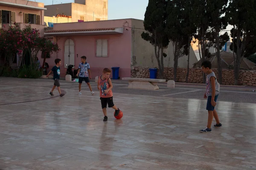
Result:
{"label": "large bush with pink flowers beside the left building", "polygon": [[[39,30],[32,28],[30,25],[22,30],[16,23],[7,30],[0,28],[0,60],[2,59],[4,61],[4,67],[11,67],[17,53],[22,54],[18,65],[20,66],[21,62],[23,62],[24,65],[25,62],[23,58],[26,53],[29,53],[33,70],[30,68],[26,70],[35,72],[38,70],[38,66],[34,63],[37,61],[36,58],[39,51],[54,53],[60,51],[60,49],[57,43],[51,42],[45,37],[40,37]],[[3,71],[0,72],[2,72],[0,75],[3,74]],[[19,77],[22,76],[19,75]]]}

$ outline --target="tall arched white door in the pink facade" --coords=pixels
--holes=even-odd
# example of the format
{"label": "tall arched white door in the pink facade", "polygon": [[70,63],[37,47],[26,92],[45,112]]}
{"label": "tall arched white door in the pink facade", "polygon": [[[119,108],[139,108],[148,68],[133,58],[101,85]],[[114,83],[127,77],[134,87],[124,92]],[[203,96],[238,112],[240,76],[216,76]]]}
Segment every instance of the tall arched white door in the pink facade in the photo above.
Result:
{"label": "tall arched white door in the pink facade", "polygon": [[67,68],[67,65],[74,65],[75,64],[75,44],[74,41],[71,39],[67,39],[65,41],[64,46],[64,66]]}

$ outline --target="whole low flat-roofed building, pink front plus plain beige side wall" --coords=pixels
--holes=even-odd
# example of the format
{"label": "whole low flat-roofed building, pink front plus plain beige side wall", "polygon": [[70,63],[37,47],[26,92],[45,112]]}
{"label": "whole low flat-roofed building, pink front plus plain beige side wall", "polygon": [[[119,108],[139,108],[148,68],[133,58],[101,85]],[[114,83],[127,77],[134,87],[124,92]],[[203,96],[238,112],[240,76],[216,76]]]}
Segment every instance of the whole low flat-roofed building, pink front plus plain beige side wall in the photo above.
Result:
{"label": "whole low flat-roofed building, pink front plus plain beige side wall", "polygon": [[[52,54],[46,62],[52,67],[55,58],[60,58],[63,63],[61,77],[65,77],[66,64],[78,68],[80,57],[85,55],[92,78],[102,74],[103,68],[111,67],[120,67],[120,78],[131,77],[134,66],[157,67],[154,46],[141,38],[143,31],[143,20],[136,19],[57,23],[47,28],[44,35],[58,42],[61,51]],[[172,44],[164,52],[168,56],[164,58],[165,67],[172,67]],[[192,48],[190,61],[197,62]],[[186,68],[187,56],[179,58],[178,66]]]}

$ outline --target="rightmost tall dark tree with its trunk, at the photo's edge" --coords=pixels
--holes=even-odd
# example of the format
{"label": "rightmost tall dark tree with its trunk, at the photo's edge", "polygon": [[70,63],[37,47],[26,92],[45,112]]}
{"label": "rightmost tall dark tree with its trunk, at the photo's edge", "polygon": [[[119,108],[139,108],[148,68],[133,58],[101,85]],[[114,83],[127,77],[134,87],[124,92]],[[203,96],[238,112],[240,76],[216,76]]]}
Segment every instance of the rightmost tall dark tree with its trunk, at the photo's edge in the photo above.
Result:
{"label": "rightmost tall dark tree with its trunk, at the photo's edge", "polygon": [[233,44],[230,45],[230,48],[236,53],[234,60],[234,78],[235,85],[237,85],[240,64],[243,57],[248,57],[250,54],[255,53],[256,1],[230,0],[226,16],[229,24],[234,26],[231,30]]}

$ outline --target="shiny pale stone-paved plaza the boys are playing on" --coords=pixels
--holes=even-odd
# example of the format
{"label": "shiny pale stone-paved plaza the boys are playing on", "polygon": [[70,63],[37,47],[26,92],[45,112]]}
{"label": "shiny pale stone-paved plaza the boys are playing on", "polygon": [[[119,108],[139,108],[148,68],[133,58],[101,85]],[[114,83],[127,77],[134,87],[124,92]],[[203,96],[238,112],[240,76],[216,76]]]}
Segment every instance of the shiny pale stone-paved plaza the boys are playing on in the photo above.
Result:
{"label": "shiny pale stone-paved plaza the boys are playing on", "polygon": [[[50,96],[50,79],[0,77],[0,170],[255,170],[256,92],[221,91],[223,127],[207,125],[204,88],[128,89],[113,81],[124,116],[103,113],[95,95],[60,81],[65,96]],[[215,123],[213,120],[212,124]]]}

